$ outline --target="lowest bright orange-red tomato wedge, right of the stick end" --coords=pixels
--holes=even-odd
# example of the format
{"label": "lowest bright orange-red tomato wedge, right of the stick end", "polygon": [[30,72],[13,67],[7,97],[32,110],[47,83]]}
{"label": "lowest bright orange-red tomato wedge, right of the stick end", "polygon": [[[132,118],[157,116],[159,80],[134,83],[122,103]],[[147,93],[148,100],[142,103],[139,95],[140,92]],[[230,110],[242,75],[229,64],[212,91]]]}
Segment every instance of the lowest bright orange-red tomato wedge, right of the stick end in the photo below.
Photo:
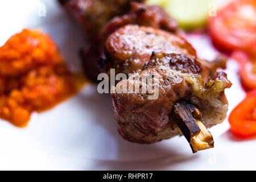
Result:
{"label": "lowest bright orange-red tomato wedge, right of the stick end", "polygon": [[247,93],[229,116],[230,130],[241,138],[256,136],[256,90]]}

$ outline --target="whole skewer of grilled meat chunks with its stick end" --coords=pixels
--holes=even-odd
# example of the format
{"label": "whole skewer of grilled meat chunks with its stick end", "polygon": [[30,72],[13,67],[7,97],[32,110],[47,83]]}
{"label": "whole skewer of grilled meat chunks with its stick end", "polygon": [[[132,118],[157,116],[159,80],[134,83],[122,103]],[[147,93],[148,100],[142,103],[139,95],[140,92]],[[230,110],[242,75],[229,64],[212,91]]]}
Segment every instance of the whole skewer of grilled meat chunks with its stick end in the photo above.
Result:
{"label": "whole skewer of grilled meat chunks with its stick end", "polygon": [[90,36],[89,48],[81,52],[90,78],[115,68],[116,73],[134,74],[114,89],[135,88],[141,84],[134,80],[138,75],[153,75],[160,82],[155,100],[148,99],[150,93],[112,93],[123,138],[154,143],[183,133],[193,152],[213,147],[207,127],[221,123],[228,109],[224,90],[231,83],[225,73],[216,72],[225,67],[225,59],[198,59],[185,39],[172,34],[177,24],[160,7],[131,3],[128,11],[127,0],[111,1],[109,7],[110,1],[102,0],[61,2]]}

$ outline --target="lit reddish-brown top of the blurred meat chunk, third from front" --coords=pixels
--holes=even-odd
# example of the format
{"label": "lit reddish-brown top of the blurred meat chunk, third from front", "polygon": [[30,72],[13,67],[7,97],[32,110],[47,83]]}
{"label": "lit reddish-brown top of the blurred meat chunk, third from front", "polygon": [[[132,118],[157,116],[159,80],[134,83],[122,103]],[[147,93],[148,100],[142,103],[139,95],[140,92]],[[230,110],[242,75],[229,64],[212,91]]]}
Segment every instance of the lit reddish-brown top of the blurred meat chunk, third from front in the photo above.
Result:
{"label": "lit reddish-brown top of the blurred meat chunk, third from front", "polygon": [[139,26],[154,27],[162,30],[176,32],[177,22],[172,19],[160,6],[147,6],[132,2],[128,14],[116,16],[104,28],[106,38],[118,28],[127,24],[138,24]]}

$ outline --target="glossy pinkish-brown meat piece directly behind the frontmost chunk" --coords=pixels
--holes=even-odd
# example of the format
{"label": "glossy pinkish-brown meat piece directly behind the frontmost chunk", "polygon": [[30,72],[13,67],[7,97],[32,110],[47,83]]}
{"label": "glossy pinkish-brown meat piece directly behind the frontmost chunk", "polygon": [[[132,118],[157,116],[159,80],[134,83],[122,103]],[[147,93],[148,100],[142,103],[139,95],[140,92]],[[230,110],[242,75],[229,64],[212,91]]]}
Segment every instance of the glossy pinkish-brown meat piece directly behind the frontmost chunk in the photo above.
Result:
{"label": "glossy pinkish-brown meat piece directly behind the frontmost chunk", "polygon": [[133,73],[148,63],[152,52],[184,53],[196,57],[196,51],[185,39],[157,28],[127,25],[106,40],[105,70]]}

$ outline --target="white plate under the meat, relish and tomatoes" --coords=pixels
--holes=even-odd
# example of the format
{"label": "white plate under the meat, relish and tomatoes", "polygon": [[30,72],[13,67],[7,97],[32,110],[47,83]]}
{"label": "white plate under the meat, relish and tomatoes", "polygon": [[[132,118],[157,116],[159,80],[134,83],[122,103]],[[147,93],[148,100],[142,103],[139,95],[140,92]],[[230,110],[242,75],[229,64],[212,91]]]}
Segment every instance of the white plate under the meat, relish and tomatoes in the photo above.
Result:
{"label": "white plate under the meat, relish and tomatoes", "polygon": [[[46,7],[46,16],[44,15]],[[42,28],[55,40],[68,65],[79,71],[77,51],[84,35],[56,1],[0,1],[0,44],[22,28]],[[201,57],[217,52],[207,36],[189,36]],[[244,96],[237,65],[229,61],[226,91],[229,111]],[[239,140],[228,121],[210,129],[215,148],[192,154],[184,137],[151,145],[123,140],[117,132],[109,95],[86,85],[77,96],[41,114],[19,129],[0,121],[0,169],[256,169],[256,140]]]}

